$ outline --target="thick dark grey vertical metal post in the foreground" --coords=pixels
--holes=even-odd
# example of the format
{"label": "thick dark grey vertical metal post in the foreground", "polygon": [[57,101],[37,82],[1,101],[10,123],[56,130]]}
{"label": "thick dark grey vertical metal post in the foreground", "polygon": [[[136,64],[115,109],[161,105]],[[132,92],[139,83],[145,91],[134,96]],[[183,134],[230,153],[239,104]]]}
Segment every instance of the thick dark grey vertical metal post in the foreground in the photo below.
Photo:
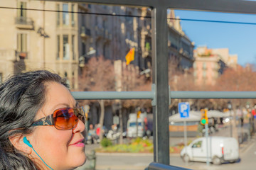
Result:
{"label": "thick dark grey vertical metal post in the foreground", "polygon": [[[152,71],[156,85],[154,116],[154,162],[170,163],[169,159],[169,85],[167,57],[167,8],[156,6],[151,11]],[[157,58],[157,59],[156,59]]]}

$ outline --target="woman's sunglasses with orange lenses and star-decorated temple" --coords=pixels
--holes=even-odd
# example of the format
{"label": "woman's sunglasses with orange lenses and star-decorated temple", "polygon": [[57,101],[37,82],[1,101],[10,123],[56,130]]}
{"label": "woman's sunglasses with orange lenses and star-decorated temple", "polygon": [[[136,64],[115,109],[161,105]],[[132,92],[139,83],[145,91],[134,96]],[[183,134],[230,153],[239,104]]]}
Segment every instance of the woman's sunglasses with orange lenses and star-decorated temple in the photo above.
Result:
{"label": "woman's sunglasses with orange lenses and star-decorated temple", "polygon": [[85,123],[85,111],[81,108],[58,108],[53,114],[36,120],[31,126],[54,125],[58,130],[71,130],[78,125],[78,120]]}

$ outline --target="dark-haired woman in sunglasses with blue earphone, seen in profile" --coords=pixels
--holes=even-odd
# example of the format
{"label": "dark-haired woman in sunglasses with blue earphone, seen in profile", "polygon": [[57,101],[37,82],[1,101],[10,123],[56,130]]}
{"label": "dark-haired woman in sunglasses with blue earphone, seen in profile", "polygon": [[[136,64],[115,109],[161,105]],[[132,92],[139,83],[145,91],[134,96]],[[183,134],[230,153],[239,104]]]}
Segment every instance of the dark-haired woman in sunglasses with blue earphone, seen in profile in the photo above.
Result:
{"label": "dark-haired woman in sunglasses with blue earphone, seen in profile", "polygon": [[86,161],[84,112],[58,74],[0,85],[0,169],[75,169]]}

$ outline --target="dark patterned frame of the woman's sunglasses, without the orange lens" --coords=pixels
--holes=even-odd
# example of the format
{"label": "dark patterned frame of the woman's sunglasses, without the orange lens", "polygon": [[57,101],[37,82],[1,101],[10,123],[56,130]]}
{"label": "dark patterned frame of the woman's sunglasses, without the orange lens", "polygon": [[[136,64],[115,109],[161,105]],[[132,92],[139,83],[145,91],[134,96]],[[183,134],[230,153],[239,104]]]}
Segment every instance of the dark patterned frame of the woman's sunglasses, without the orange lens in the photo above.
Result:
{"label": "dark patterned frame of the woman's sunglasses, without the orange lens", "polygon": [[[55,111],[53,111],[53,114],[47,115],[44,118],[41,118],[41,119],[38,119],[38,120],[34,121],[31,126],[53,125],[56,128],[55,115],[56,115],[57,111],[63,110],[63,109],[66,109],[66,110],[73,109],[74,115],[78,119],[82,120],[82,123],[85,123],[85,110],[84,110],[83,107],[79,107],[79,108],[58,108]],[[84,114],[81,114],[81,113],[84,113]],[[77,125],[78,125],[78,122],[73,126],[73,128],[68,128],[68,129],[56,128],[56,129],[57,130],[71,130],[71,129],[74,129]]]}

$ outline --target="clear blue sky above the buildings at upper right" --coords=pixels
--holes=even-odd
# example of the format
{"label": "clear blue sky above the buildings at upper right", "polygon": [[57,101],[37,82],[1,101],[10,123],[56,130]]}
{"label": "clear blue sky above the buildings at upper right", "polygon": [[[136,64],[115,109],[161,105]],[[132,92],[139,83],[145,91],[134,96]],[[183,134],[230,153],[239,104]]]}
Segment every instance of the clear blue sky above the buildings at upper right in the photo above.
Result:
{"label": "clear blue sky above the buildings at upper right", "polygon": [[207,45],[208,48],[229,48],[231,55],[238,55],[238,64],[256,64],[256,15],[181,10],[175,10],[175,14],[181,19],[255,23],[181,21],[181,26],[196,47]]}

